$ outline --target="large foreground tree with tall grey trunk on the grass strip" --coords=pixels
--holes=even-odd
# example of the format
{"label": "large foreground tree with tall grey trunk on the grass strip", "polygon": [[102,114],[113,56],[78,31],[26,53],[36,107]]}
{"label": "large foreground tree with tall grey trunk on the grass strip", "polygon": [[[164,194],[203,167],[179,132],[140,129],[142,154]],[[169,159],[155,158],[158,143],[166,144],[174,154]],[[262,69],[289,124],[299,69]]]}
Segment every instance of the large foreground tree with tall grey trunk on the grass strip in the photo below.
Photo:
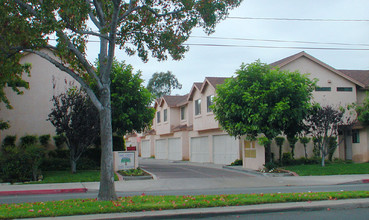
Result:
{"label": "large foreground tree with tall grey trunk on the grass strip", "polygon": [[[4,24],[0,27],[0,57],[5,58],[0,66],[19,63],[23,52],[34,53],[81,84],[100,115],[98,198],[115,200],[110,73],[116,48],[128,55],[137,52],[145,62],[149,53],[158,60],[166,60],[169,55],[180,60],[188,50],[183,43],[193,28],[202,27],[211,34],[228,11],[240,3],[241,0],[0,0],[0,21]],[[56,37],[56,45],[49,44],[51,34]],[[100,45],[99,73],[87,60],[87,41],[91,37],[97,38]],[[57,59],[40,50],[43,48],[51,50]],[[99,94],[90,87],[91,80],[96,81]]]}

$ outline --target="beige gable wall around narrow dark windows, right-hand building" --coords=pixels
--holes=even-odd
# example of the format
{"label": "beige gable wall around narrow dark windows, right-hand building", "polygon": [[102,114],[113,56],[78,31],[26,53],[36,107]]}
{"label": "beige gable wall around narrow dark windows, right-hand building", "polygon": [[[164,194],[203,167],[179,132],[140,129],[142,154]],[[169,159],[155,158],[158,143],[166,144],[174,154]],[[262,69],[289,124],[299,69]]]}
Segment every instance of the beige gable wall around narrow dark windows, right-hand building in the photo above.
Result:
{"label": "beige gable wall around narrow dark windows, right-hand building", "polygon": [[[299,70],[302,74],[309,73],[311,79],[319,79],[317,83],[319,87],[331,87],[331,91],[313,92],[314,101],[322,105],[345,106],[357,101],[356,85],[354,83],[306,57],[301,57],[281,69]],[[337,87],[352,87],[352,92],[337,92]]]}

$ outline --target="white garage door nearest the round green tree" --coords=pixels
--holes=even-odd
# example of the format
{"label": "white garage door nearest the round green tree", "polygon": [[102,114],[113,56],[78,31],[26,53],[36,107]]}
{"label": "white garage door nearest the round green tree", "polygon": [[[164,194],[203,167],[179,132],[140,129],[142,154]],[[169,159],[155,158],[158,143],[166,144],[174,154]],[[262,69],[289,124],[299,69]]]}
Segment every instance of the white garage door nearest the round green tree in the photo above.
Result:
{"label": "white garage door nearest the round green tree", "polygon": [[213,161],[215,164],[231,164],[239,158],[238,140],[229,135],[213,136]]}

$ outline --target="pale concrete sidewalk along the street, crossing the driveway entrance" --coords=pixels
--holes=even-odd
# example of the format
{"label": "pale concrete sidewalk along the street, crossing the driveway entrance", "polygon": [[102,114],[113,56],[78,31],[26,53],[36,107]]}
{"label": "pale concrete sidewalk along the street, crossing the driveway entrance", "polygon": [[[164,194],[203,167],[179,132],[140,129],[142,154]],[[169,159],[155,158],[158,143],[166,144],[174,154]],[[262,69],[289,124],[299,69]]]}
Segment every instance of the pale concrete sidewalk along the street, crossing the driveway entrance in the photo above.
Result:
{"label": "pale concrete sidewalk along the street, crossing the driveway entrance", "polygon": [[[143,160],[143,163],[173,164],[168,160]],[[221,165],[199,164],[191,162],[179,162],[175,164],[191,164],[223,169]],[[360,175],[335,175],[335,176],[280,176],[270,177],[255,175],[255,171],[245,170],[240,167],[233,172],[246,172],[245,180],[227,178],[175,178],[175,179],[150,179],[116,181],[117,192],[155,192],[173,190],[201,190],[217,188],[242,188],[242,187],[273,187],[273,186],[314,186],[369,183],[369,174]],[[55,193],[81,193],[86,191],[98,191],[99,182],[83,183],[58,183],[58,184],[0,184],[0,196],[28,195],[28,194],[55,194]]]}

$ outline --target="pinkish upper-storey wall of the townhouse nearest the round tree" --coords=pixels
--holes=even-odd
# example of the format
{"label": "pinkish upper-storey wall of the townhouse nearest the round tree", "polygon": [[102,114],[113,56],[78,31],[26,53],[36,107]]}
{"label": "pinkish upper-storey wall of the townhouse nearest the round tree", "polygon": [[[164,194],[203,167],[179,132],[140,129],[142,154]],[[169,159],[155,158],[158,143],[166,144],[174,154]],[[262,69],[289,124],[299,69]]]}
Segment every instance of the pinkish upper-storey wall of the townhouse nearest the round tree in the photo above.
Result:
{"label": "pinkish upper-storey wall of the townhouse nearest the round tree", "polygon": [[[193,129],[196,131],[219,128],[219,123],[214,119],[213,112],[207,112],[207,97],[215,94],[212,86],[207,86],[203,93],[196,90],[193,95]],[[201,114],[195,115],[195,101],[201,100]]]}

